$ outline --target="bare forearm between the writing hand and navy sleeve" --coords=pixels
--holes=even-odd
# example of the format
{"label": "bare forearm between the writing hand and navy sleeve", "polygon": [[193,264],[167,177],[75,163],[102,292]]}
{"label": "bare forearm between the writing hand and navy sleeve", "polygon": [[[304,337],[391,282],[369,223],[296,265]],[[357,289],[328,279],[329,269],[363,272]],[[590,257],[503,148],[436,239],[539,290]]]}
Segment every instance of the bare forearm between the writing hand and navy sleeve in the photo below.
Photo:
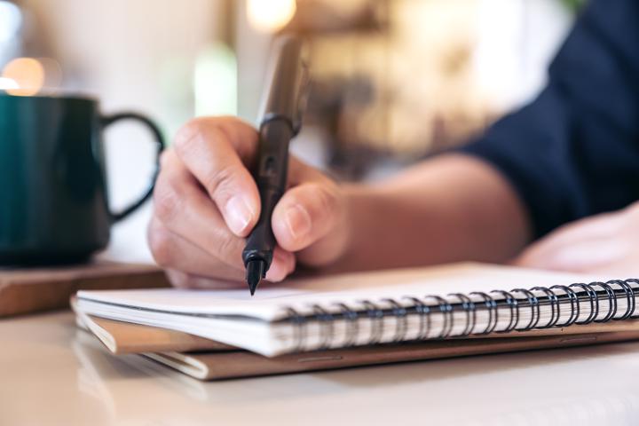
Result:
{"label": "bare forearm between the writing hand and navy sleeve", "polygon": [[345,191],[349,243],[331,269],[503,262],[530,240],[517,194],[501,174],[470,156],[442,155],[381,185]]}

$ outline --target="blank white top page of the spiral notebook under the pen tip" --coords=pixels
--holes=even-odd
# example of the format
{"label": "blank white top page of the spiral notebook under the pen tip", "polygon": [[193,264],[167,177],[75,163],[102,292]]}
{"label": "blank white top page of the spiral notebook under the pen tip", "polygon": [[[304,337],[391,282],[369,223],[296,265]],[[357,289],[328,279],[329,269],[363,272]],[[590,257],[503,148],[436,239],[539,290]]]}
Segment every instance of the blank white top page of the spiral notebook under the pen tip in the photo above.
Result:
{"label": "blank white top page of the spiral notebook under the pen tip", "polygon": [[280,284],[264,283],[253,297],[241,283],[236,290],[91,290],[78,292],[78,297],[80,306],[84,300],[93,300],[167,312],[238,315],[275,320],[288,315],[286,308],[306,312],[311,304],[350,304],[362,299],[375,301],[401,296],[446,296],[450,293],[550,287],[593,280],[596,277],[464,263],[286,280]]}

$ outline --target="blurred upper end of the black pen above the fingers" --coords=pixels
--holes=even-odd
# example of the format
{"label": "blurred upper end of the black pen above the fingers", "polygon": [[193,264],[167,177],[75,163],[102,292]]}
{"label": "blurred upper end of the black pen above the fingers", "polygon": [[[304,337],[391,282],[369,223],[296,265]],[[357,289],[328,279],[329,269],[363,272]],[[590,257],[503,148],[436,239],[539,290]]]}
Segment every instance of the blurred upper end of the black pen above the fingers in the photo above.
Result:
{"label": "blurred upper end of the black pen above the fingers", "polygon": [[282,119],[296,131],[301,124],[307,83],[308,67],[302,40],[296,36],[275,39],[264,80],[260,122]]}

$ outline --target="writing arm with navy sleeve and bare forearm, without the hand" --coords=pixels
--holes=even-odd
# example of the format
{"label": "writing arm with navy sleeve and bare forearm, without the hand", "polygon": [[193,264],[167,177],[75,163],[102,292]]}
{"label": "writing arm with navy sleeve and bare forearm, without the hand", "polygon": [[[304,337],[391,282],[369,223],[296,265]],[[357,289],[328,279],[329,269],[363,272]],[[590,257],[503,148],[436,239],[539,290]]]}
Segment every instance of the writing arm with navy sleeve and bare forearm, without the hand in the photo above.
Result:
{"label": "writing arm with navy sleeve and bare forearm, without the hand", "polygon": [[461,154],[348,188],[351,244],[337,267],[501,262],[639,199],[637,40],[638,2],[589,4],[533,103]]}

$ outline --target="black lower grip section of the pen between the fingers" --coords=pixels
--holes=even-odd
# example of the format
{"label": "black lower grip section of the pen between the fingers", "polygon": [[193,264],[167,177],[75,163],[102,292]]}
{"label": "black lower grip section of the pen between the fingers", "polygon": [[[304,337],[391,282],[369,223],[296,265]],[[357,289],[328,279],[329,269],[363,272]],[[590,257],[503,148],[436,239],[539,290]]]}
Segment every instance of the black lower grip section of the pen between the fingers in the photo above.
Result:
{"label": "black lower grip section of the pen between the fingers", "polygon": [[248,235],[242,260],[262,260],[266,271],[272,263],[272,252],[277,242],[272,232],[271,218],[275,206],[284,194],[288,174],[288,145],[294,136],[292,123],[285,119],[272,119],[260,126],[259,151],[254,173],[260,193],[260,217]]}

